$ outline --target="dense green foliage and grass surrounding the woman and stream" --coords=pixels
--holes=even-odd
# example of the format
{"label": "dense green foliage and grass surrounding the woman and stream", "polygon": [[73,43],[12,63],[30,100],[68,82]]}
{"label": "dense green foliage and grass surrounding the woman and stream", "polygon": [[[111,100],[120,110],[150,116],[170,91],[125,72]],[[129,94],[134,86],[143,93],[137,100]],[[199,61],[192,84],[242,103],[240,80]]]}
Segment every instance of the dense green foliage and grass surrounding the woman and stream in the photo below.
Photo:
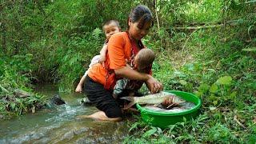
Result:
{"label": "dense green foliage and grass surrounding the woman and stream", "polygon": [[102,23],[117,19],[126,30],[139,3],[155,17],[144,39],[158,54],[154,76],[165,90],[197,94],[202,114],[166,130],[138,118],[125,142],[256,142],[255,1],[3,1],[0,115],[22,114],[42,99],[15,98],[16,89],[56,82],[74,90],[102,47]]}

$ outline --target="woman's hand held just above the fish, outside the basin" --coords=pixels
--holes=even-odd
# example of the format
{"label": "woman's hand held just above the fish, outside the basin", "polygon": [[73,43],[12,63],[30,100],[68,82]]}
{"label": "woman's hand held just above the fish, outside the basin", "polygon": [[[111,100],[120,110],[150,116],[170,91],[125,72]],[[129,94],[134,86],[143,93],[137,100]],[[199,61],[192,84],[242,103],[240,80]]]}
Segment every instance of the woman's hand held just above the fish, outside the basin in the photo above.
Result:
{"label": "woman's hand held just above the fish, outside the basin", "polygon": [[149,79],[146,81],[146,86],[150,90],[151,93],[158,93],[162,90],[162,83],[158,82],[155,78],[153,78],[150,74],[148,74]]}

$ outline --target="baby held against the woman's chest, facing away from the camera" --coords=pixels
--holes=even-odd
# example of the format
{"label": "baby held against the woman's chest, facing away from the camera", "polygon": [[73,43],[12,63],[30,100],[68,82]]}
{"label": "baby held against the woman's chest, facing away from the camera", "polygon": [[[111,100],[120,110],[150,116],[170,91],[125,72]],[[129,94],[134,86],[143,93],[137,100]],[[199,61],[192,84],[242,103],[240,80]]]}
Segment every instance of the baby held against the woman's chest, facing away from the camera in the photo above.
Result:
{"label": "baby held against the woman's chest, facing away from the camera", "polygon": [[[151,67],[154,62],[154,52],[150,49],[142,49],[138,51],[138,54],[134,58],[134,62],[131,62],[130,67],[134,67],[134,70],[145,73],[151,74]],[[134,65],[134,66],[132,66]],[[120,98],[122,96],[136,96],[138,94],[138,90],[142,87],[143,81],[137,80],[129,80],[126,78],[119,79],[114,86],[113,96],[114,98]]]}

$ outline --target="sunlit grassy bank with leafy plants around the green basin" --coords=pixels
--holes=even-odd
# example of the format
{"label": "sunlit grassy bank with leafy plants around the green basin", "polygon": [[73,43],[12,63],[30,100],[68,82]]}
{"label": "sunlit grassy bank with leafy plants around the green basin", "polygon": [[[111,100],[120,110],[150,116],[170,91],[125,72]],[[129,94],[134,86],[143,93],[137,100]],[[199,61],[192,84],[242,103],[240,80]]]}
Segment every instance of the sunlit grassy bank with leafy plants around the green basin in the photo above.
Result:
{"label": "sunlit grassy bank with leafy plants around the green basin", "polygon": [[[124,143],[256,142],[256,60],[254,54],[242,52],[244,43],[239,37],[226,42],[223,38],[222,31],[198,30],[184,50],[158,54],[153,65],[155,78],[165,90],[198,95],[202,99],[201,114],[165,130],[138,118],[130,124],[130,137]],[[178,58],[181,54],[186,58]]]}

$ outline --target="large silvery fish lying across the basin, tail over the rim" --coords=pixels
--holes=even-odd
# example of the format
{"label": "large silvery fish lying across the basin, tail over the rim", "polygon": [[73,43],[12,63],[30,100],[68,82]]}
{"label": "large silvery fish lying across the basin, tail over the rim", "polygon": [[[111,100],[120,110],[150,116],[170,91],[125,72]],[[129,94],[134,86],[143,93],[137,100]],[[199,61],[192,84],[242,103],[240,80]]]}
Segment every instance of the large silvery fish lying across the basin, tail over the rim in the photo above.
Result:
{"label": "large silvery fish lying across the basin, tail over the rim", "polygon": [[[122,97],[121,99],[130,101],[130,103],[124,108],[128,109],[131,106],[134,106],[135,103],[158,105],[164,102],[167,98],[170,98],[172,101],[170,106],[178,106],[178,104],[181,102],[185,102],[185,100],[182,100],[182,98],[179,98],[176,94],[171,94],[164,91],[161,91],[157,94],[148,94],[142,97]],[[170,106],[167,106],[167,108]]]}

